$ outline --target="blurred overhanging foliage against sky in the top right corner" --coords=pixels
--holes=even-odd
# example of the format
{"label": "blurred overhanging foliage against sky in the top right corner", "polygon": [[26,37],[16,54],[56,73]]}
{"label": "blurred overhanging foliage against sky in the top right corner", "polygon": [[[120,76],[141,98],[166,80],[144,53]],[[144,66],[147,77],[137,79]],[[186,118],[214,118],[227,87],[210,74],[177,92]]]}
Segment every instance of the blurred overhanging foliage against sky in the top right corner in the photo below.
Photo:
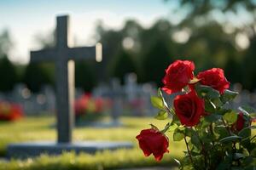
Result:
{"label": "blurred overhanging foliage against sky in the top right corner", "polygon": [[[165,1],[168,2],[170,0]],[[214,19],[216,17],[214,13],[236,15],[242,11],[255,19],[253,12],[255,12],[256,2],[254,0],[179,0],[175,2],[175,5],[176,8],[172,9],[174,13],[181,14],[180,12],[183,11],[181,26],[202,24],[207,22],[207,20],[211,20],[211,18]]]}

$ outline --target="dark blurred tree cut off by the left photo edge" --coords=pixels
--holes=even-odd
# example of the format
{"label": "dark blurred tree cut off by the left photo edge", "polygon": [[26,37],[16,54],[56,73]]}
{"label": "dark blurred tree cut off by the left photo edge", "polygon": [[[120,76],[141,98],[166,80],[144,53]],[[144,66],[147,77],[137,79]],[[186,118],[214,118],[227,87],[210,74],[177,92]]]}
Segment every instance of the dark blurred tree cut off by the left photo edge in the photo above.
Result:
{"label": "dark blurred tree cut off by the left photo edge", "polygon": [[15,87],[15,83],[18,82],[18,75],[13,65],[6,55],[0,59],[0,91],[9,92]]}

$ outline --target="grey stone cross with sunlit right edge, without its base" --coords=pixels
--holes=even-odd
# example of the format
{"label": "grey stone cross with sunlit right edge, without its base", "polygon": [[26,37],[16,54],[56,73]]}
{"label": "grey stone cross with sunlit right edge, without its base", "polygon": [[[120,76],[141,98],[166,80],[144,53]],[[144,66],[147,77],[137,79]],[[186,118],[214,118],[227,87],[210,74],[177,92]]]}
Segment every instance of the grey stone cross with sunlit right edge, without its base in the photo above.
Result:
{"label": "grey stone cross with sunlit right edge, without its base", "polygon": [[[31,61],[55,63],[58,143],[72,142],[74,102],[74,59],[102,60],[102,44],[95,47],[69,48],[69,17],[57,17],[56,45],[52,49],[31,52]],[[86,77],[84,77],[86,78]]]}

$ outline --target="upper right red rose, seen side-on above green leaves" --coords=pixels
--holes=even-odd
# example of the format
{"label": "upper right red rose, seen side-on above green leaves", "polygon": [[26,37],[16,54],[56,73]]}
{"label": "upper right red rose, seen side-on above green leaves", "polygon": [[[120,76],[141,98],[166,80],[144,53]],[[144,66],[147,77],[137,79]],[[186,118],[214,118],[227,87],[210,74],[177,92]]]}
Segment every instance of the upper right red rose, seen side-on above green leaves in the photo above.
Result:
{"label": "upper right red rose, seen side-on above green leaves", "polygon": [[224,77],[224,71],[219,68],[200,72],[197,78],[201,80],[202,85],[211,86],[220,94],[224,94],[224,90],[230,88],[230,82]]}

